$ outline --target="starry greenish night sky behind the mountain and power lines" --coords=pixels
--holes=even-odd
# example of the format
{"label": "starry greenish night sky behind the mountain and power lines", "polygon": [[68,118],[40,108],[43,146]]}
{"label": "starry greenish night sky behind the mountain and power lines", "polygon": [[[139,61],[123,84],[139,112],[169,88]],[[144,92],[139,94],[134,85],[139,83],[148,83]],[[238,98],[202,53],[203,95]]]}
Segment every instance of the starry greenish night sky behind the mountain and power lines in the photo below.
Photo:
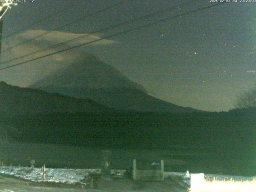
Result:
{"label": "starry greenish night sky behind the mountain and power lines", "polygon": [[[209,1],[192,1],[194,3],[189,6],[102,32],[95,38],[214,4]],[[65,13],[31,26],[27,28],[30,31],[22,31],[11,40],[5,38],[48,14],[72,6],[72,2],[75,6]],[[18,3],[5,15],[2,50],[32,38],[43,30],[53,30],[117,2],[121,1],[27,0]],[[64,41],[62,38],[70,39],[76,34],[94,32],[184,2],[188,1],[130,0],[59,29],[65,34],[61,38],[48,34],[8,50],[1,55],[1,61]],[[28,86],[50,74],[57,66],[78,59],[85,51],[116,67],[125,76],[144,86],[150,95],[200,110],[230,110],[234,108],[235,96],[252,88],[256,82],[256,3],[230,2],[107,40],[2,70],[0,80],[12,85]],[[15,63],[18,61],[2,64],[2,67]]]}

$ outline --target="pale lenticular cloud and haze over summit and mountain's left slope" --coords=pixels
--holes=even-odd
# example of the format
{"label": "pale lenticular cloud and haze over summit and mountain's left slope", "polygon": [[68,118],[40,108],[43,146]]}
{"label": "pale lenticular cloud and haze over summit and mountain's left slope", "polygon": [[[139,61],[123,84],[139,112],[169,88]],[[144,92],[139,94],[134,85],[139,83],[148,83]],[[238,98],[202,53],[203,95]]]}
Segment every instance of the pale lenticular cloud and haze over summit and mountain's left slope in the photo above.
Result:
{"label": "pale lenticular cloud and haze over summit and mountain's left slope", "polygon": [[[24,58],[19,58],[18,60],[3,63],[1,67],[3,68],[6,66],[15,65],[20,62],[38,58],[47,54],[51,54],[53,52],[70,48],[72,46],[76,46],[86,42],[91,42],[94,40],[99,40],[100,38],[102,38],[98,35],[86,35],[86,38],[82,38],[77,41],[70,42],[68,44],[61,44],[60,46],[54,46],[56,44],[66,42],[75,38],[79,38],[85,35],[86,34],[75,34],[60,31],[49,32],[46,30],[27,30],[20,34],[16,34],[15,36],[3,40],[1,62],[22,57],[24,55],[37,52],[39,50],[44,50],[48,47],[51,48],[44,50],[42,52],[38,52],[36,54],[28,55]],[[30,39],[32,38],[35,39],[30,41]],[[104,39],[94,42],[92,44],[88,44],[88,46],[110,46],[114,43],[115,41]],[[9,48],[11,49],[5,51]],[[79,50],[76,49],[61,52],[58,54],[54,54],[48,57],[44,57],[38,60],[34,60],[32,62],[22,64],[20,66],[9,68],[8,70],[4,70],[1,72],[0,80],[4,80],[9,84],[17,86],[28,86],[29,84],[32,84],[33,82],[50,75],[52,72],[58,70],[59,68],[68,66],[70,63],[75,62],[77,60],[81,60],[81,58],[84,57],[84,52],[82,49],[83,48],[81,47]],[[19,74],[19,76],[15,75],[17,73]]]}

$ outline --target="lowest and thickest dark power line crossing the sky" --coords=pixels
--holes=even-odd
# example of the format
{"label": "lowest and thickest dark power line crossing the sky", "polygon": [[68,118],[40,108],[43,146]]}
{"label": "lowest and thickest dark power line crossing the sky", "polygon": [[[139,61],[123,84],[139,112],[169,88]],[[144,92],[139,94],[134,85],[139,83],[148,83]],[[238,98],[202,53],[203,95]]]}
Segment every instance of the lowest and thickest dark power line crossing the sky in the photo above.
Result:
{"label": "lowest and thickest dark power line crossing the sky", "polygon": [[70,48],[66,48],[64,50],[60,50],[60,51],[57,51],[57,52],[54,52],[54,53],[50,53],[50,54],[47,54],[47,55],[44,55],[44,56],[40,56],[38,58],[34,58],[34,59],[30,59],[30,60],[27,60],[27,61],[24,61],[24,62],[20,62],[18,64],[14,64],[12,66],[8,66],[8,67],[4,67],[4,68],[1,68],[0,70],[5,70],[5,69],[8,69],[8,68],[11,68],[11,67],[14,67],[14,66],[18,66],[18,65],[22,65],[22,64],[25,64],[25,63],[28,63],[30,61],[34,61],[34,60],[38,60],[40,58],[44,58],[44,57],[48,57],[48,56],[52,56],[54,54],[57,54],[57,53],[61,53],[61,52],[65,52],[65,51],[68,51],[68,50],[71,50],[71,49],[74,49],[74,48],[78,48],[80,46],[84,46],[84,45],[87,45],[87,44],[91,44],[91,43],[94,43],[94,42],[98,42],[100,40],[103,40],[103,39],[106,39],[106,38],[111,38],[111,37],[114,37],[114,36],[118,36],[118,35],[121,35],[121,34],[124,34],[124,33],[128,33],[128,32],[132,32],[134,30],[138,30],[138,29],[141,29],[141,28],[144,28],[144,27],[148,27],[148,26],[152,26],[154,24],[157,24],[157,23],[160,23],[160,22],[165,22],[165,21],[168,21],[168,20],[171,20],[173,18],[177,18],[177,17],[180,17],[180,16],[184,16],[186,14],[191,14],[191,13],[194,13],[194,12],[199,12],[199,11],[202,11],[202,10],[206,10],[208,8],[212,8],[212,7],[215,7],[215,6],[220,6],[220,5],[223,5],[227,2],[223,2],[223,3],[219,3],[219,4],[214,4],[214,5],[211,5],[211,6],[206,6],[204,8],[199,8],[199,9],[196,9],[196,10],[192,10],[192,11],[189,11],[189,12],[185,12],[185,13],[182,13],[182,14],[179,14],[179,15],[176,15],[176,16],[172,16],[170,18],[166,18],[166,19],[162,19],[162,20],[159,20],[159,21],[156,21],[156,22],[152,22],[150,24],[146,24],[146,25],[142,25],[142,26],[138,26],[136,28],[133,28],[133,29],[130,29],[130,30],[126,30],[126,31],[123,31],[123,32],[119,32],[119,33],[116,33],[116,34],[112,34],[112,35],[109,35],[109,36],[106,36],[106,37],[103,37],[103,38],[100,38],[100,39],[97,39],[97,40],[94,40],[94,41],[91,41],[91,42],[87,42],[87,43],[83,43],[83,44],[80,44],[80,45],[76,45],[76,46],[73,46],[73,47],[70,47]]}

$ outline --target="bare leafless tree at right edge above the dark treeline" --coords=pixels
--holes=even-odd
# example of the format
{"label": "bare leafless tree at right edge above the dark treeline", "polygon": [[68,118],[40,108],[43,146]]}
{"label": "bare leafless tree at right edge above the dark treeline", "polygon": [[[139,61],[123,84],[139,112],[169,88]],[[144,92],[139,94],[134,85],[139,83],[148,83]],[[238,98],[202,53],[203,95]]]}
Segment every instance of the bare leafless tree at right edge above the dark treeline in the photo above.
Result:
{"label": "bare leafless tree at right edge above the dark treeline", "polygon": [[237,108],[256,108],[256,87],[236,96]]}

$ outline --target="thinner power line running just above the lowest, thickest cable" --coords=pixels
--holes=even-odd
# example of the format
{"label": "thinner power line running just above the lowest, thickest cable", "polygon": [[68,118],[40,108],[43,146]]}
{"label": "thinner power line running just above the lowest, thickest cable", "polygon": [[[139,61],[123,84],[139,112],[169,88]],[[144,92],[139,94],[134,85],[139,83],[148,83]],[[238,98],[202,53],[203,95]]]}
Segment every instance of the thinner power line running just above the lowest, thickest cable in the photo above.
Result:
{"label": "thinner power line running just above the lowest, thickest cable", "polygon": [[[116,24],[116,25],[112,25],[112,26],[109,26],[109,27],[107,27],[107,28],[104,28],[104,29],[101,29],[101,30],[97,30],[97,31],[95,31],[95,32],[91,32],[91,33],[89,33],[89,34],[85,34],[85,35],[83,35],[83,36],[80,36],[80,37],[77,37],[77,38],[73,38],[73,39],[71,39],[71,40],[68,40],[68,41],[65,41],[65,42],[61,42],[61,43],[55,44],[55,45],[50,46],[50,47],[47,47],[47,48],[43,48],[43,49],[38,50],[38,51],[36,51],[36,52],[31,52],[31,53],[29,53],[29,54],[20,56],[20,57],[18,57],[18,58],[13,58],[13,59],[4,61],[4,62],[2,62],[2,63],[0,63],[0,64],[4,64],[4,63],[7,63],[7,62],[11,62],[11,61],[14,61],[14,60],[18,60],[18,59],[24,58],[24,57],[26,57],[26,56],[31,56],[31,55],[34,55],[34,54],[38,54],[38,53],[40,53],[40,52],[42,52],[42,51],[46,51],[46,50],[48,50],[48,49],[50,49],[50,48],[54,48],[54,47],[56,47],[56,46],[60,46],[60,45],[63,45],[63,44],[67,44],[67,43],[70,43],[70,42],[73,42],[73,41],[76,41],[76,40],[80,40],[80,39],[86,38],[87,36],[90,36],[90,35],[92,35],[92,34],[96,34],[96,33],[99,33],[99,32],[103,32],[103,31],[105,31],[105,30],[109,30],[109,29],[112,29],[112,28],[116,28],[116,27],[119,27],[119,26],[122,26],[122,25],[127,25],[127,24],[129,24],[129,23],[131,23],[131,22],[135,22],[135,21],[137,21],[137,20],[149,18],[149,17],[154,16],[154,15],[159,14],[159,13],[169,12],[170,10],[172,10],[172,9],[174,9],[174,8],[181,8],[181,7],[183,7],[183,6],[188,6],[188,5],[191,4],[191,3],[196,3],[196,2],[200,2],[200,1],[202,1],[202,0],[196,0],[196,1],[193,1],[193,2],[187,2],[187,3],[183,3],[183,4],[180,4],[180,5],[177,5],[177,6],[172,6],[172,7],[170,7],[170,8],[164,9],[164,10],[159,10],[159,11],[157,11],[157,12],[153,12],[153,13],[147,14],[147,15],[145,15],[145,16],[140,16],[140,17],[138,17],[138,18],[134,18],[134,19],[128,20],[128,21],[126,21],[126,22],[122,22],[122,23],[119,23],[119,24]],[[203,1],[204,1],[204,0],[203,0]]]}

